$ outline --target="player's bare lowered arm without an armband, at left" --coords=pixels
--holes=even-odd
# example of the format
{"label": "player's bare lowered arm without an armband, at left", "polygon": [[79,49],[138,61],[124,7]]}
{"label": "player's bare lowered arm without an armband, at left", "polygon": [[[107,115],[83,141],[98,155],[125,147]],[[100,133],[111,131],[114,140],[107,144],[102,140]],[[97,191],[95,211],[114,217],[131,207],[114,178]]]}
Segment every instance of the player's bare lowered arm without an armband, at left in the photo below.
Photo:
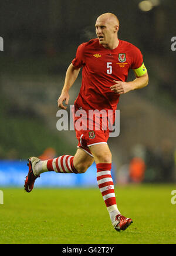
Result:
{"label": "player's bare lowered arm without an armband, at left", "polygon": [[57,100],[58,107],[61,109],[66,109],[67,107],[63,105],[63,101],[67,105],[69,103],[69,90],[72,85],[75,83],[76,78],[79,74],[80,68],[75,67],[72,63],[69,65],[66,71],[65,83],[62,89],[62,93],[60,94],[59,99]]}

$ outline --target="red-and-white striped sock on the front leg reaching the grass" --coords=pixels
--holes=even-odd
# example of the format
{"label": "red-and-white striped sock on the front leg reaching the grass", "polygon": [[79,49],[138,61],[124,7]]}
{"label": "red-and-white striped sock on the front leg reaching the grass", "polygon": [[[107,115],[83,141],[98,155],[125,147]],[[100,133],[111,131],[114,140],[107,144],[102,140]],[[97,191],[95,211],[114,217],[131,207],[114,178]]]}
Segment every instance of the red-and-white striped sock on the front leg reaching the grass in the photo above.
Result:
{"label": "red-and-white striped sock on the front leg reaching the grass", "polygon": [[114,193],[114,183],[111,177],[111,163],[98,163],[97,165],[97,183],[101,195],[109,212],[110,219],[114,222],[117,214],[120,214],[116,204]]}

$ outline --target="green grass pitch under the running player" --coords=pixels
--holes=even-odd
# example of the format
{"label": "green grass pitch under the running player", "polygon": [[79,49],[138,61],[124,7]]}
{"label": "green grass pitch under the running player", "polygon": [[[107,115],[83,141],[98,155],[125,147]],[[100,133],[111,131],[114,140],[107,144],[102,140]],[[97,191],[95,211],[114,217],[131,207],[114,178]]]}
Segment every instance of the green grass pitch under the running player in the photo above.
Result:
{"label": "green grass pitch under the running player", "polygon": [[1,188],[0,244],[175,244],[175,185],[116,187],[121,214],[133,219],[117,232],[98,188]]}

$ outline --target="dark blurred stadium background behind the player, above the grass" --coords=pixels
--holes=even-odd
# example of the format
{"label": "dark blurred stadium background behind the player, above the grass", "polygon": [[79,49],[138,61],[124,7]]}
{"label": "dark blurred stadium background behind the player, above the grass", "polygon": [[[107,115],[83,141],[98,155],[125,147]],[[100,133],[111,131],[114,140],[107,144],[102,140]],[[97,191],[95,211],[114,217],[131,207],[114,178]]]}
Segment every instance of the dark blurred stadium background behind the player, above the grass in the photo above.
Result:
{"label": "dark blurred stadium background behind the player, above the grass", "polygon": [[[119,38],[140,48],[150,78],[148,87],[121,96],[117,106],[120,136],[109,139],[116,181],[175,182],[175,11],[173,0],[1,1],[1,187],[23,185],[29,156],[75,154],[75,132],[56,129],[57,99],[77,46],[96,37],[94,22],[104,12],[119,17]],[[133,78],[131,72],[128,80]],[[81,76],[70,90],[70,104],[80,83]],[[94,185],[94,168],[87,183],[70,178],[66,185]],[[63,185],[63,177],[55,178],[41,185]]]}

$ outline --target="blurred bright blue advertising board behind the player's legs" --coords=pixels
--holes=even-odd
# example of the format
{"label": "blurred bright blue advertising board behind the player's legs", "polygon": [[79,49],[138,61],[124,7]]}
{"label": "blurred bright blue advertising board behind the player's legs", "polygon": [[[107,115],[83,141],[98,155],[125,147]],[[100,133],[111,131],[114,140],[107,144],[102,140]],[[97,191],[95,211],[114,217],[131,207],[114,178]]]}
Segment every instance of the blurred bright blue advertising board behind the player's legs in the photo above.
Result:
{"label": "blurred bright blue advertising board behind the player's legs", "polygon": [[[0,188],[23,187],[28,174],[27,161],[25,160],[0,160]],[[114,168],[111,169],[114,180]],[[115,181],[115,180],[114,180]],[[96,164],[87,169],[86,173],[56,173],[45,172],[36,179],[35,187],[76,187],[96,186]]]}

